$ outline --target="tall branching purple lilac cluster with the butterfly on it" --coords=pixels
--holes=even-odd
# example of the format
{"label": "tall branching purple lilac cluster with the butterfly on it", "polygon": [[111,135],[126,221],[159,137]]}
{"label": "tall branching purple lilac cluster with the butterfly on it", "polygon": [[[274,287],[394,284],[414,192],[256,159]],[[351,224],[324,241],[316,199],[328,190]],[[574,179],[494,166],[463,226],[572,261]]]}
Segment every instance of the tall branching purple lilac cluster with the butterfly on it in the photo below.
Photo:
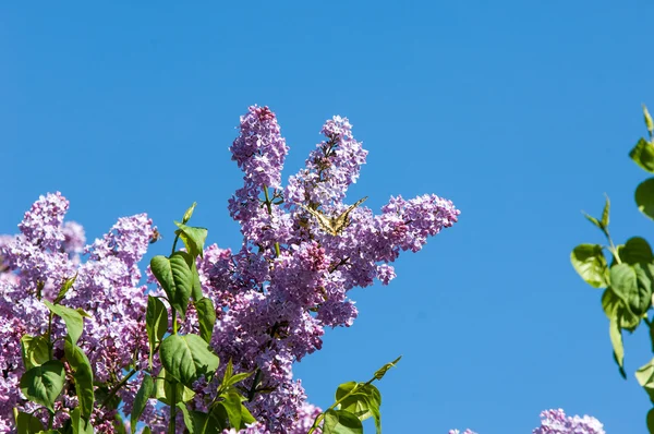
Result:
{"label": "tall branching purple lilac cluster with the butterfly on it", "polygon": [[[281,186],[288,153],[277,117],[267,107],[250,107],[241,118],[232,159],[243,170],[243,188],[229,201],[241,226],[237,252],[209,246],[197,264],[203,290],[216,304],[213,347],[221,360],[241,371],[259,372],[249,407],[275,433],[305,433],[319,409],[307,405],[292,365],[319,350],[325,327],[350,326],[356,317],[348,291],[376,279],[395,277],[392,263],[401,251],[419,251],[427,237],[452,226],[459,210],[436,195],[391,198],[375,216],[365,207],[348,215],[335,236],[306,208],[325,216],[348,209],[343,202],[359,178],[367,150],[352,135],[346,118],[322,129],[304,169]],[[195,329],[192,315],[185,326]],[[215,385],[203,385],[208,394]],[[203,408],[205,394],[196,395]]]}

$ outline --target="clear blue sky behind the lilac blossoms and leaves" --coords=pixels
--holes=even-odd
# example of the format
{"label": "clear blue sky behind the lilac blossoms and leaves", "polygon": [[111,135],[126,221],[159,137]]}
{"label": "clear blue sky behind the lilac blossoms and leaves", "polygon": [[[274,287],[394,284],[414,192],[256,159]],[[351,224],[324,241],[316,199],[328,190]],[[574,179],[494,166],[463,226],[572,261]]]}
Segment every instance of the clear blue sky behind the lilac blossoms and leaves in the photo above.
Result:
{"label": "clear blue sky behind the lilac blossoms and leaves", "polygon": [[627,156],[654,106],[652,1],[131,3],[0,7],[0,232],[59,190],[92,239],[147,212],[165,253],[197,201],[209,241],[237,248],[239,116],[278,113],[287,176],[347,116],[370,149],[351,202],[436,193],[462,214],[389,287],[352,292],[354,326],[298,366],[311,400],[403,354],[385,433],[530,433],[557,407],[645,431],[646,333],[626,338],[625,382],[569,253],[602,241],[580,210],[604,192],[616,240],[653,233]]}

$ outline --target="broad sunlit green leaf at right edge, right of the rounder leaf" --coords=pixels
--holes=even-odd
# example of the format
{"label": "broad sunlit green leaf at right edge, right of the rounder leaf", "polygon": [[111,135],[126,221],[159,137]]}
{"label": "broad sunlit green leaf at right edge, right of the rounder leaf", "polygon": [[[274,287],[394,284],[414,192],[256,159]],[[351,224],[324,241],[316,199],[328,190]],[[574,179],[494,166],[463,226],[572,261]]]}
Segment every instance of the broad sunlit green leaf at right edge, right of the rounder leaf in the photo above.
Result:
{"label": "broad sunlit green leaf at right edge, right of the rounder leaf", "polygon": [[611,289],[635,315],[644,314],[652,305],[653,272],[651,264],[622,263],[610,268]]}

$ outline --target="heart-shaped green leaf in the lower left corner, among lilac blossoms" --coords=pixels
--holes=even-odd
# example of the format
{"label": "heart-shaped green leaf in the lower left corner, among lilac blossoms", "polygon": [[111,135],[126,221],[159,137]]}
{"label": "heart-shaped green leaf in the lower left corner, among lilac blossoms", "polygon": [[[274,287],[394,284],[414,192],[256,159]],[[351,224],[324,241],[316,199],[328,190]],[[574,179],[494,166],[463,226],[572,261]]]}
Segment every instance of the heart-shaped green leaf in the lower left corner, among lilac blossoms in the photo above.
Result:
{"label": "heart-shaped green leaf in the lower left corner, among lilac blossoms", "polygon": [[55,412],[55,401],[63,389],[64,381],[63,363],[59,360],[50,360],[23,374],[21,377],[21,391],[27,399]]}

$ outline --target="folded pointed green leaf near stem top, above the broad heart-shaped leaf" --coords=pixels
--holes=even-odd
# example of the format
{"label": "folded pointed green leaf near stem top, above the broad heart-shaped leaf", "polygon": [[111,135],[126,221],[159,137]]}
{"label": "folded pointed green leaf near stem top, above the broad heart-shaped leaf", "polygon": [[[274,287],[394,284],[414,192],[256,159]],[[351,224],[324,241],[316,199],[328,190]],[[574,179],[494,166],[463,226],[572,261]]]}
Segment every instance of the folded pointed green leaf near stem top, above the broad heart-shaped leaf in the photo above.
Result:
{"label": "folded pointed green leaf near stem top, above the broad heart-shaped leaf", "polygon": [[166,291],[170,305],[180,313],[182,320],[186,316],[193,287],[192,262],[186,252],[174,252],[170,258],[159,255],[150,261],[153,274]]}

